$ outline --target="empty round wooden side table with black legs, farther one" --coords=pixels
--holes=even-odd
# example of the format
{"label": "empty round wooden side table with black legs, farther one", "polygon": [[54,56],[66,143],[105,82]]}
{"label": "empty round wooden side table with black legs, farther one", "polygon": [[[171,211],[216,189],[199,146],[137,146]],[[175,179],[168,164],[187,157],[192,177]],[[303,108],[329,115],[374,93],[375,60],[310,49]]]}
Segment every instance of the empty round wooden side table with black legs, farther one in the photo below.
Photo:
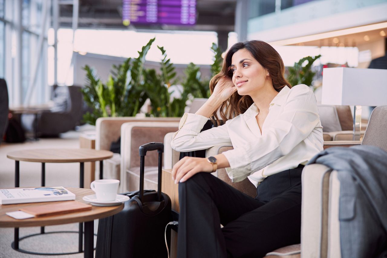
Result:
{"label": "empty round wooden side table with black legs, farther one", "polygon": [[[99,161],[99,179],[103,179],[103,160],[113,157],[113,152],[93,149],[34,149],[12,151],[7,153],[7,158],[15,160],[15,187],[20,184],[20,161],[41,162],[41,186],[45,186],[46,162],[48,163],[80,163],[79,187],[84,188],[84,162]],[[94,193],[94,192],[93,192]],[[41,227],[41,234],[45,228]],[[83,223],[79,224],[79,251],[82,251]],[[19,229],[15,228],[15,245],[19,245]]]}

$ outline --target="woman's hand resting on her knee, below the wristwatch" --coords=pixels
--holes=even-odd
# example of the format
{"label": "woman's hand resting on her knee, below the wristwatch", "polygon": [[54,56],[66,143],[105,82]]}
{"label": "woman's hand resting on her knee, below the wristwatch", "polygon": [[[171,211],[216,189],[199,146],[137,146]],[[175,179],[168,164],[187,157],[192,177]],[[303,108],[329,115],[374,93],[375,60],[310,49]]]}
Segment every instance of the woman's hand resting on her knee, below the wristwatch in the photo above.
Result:
{"label": "woman's hand resting on her knee, below the wristwatch", "polygon": [[172,168],[172,180],[175,184],[184,182],[199,172],[212,172],[212,164],[206,158],[184,157]]}

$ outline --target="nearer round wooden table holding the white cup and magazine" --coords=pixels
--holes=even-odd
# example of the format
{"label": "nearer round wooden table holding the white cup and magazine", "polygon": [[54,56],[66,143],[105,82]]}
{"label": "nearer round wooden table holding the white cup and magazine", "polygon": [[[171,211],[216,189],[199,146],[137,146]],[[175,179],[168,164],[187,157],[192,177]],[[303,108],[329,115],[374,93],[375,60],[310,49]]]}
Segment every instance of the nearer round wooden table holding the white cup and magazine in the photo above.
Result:
{"label": "nearer round wooden table holding the white cup and magazine", "polygon": [[[94,193],[91,189],[73,188],[73,187],[65,187],[65,188],[75,194],[76,201],[79,201],[82,203],[86,203],[86,201],[82,200],[83,196]],[[124,207],[123,204],[120,204],[117,206],[92,206],[91,210],[57,214],[57,215],[51,215],[51,216],[42,216],[37,218],[26,218],[23,220],[17,220],[5,214],[6,212],[15,212],[22,207],[40,206],[48,203],[52,203],[52,202],[18,203],[18,204],[0,205],[0,227],[16,227],[17,230],[19,230],[19,227],[35,227],[35,226],[68,224],[68,223],[74,223],[74,222],[84,222],[85,224],[84,257],[92,258],[94,256],[94,251],[93,251],[94,220],[112,216],[120,212]],[[30,235],[30,236],[33,236],[33,235]],[[15,240],[14,240],[14,243],[12,243],[12,248],[14,248],[17,251],[21,251],[23,253],[32,253],[32,252],[19,249],[19,234],[17,234],[17,239],[15,234]],[[81,252],[82,252],[82,249],[79,251],[79,253]],[[77,252],[74,252],[74,253],[77,253]]]}

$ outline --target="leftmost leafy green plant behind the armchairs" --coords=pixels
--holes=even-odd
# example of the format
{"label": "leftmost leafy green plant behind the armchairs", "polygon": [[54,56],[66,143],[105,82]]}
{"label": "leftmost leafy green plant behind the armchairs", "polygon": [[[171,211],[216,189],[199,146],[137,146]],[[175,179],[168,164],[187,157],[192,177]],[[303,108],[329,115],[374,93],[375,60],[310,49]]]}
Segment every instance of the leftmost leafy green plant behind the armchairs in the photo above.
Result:
{"label": "leftmost leafy green plant behind the armchairs", "polygon": [[99,78],[97,71],[88,65],[86,86],[81,89],[84,100],[91,107],[83,119],[95,124],[98,117],[135,116],[148,98],[143,86],[145,57],[155,38],[142,47],[139,57],[127,58],[120,65],[113,65],[106,83]]}

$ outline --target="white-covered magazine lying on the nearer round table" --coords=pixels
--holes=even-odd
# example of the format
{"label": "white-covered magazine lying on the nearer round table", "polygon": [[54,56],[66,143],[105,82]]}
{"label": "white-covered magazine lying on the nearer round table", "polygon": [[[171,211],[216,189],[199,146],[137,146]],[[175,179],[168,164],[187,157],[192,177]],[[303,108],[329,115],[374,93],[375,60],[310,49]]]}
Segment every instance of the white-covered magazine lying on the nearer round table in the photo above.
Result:
{"label": "white-covered magazine lying on the nearer round table", "polygon": [[75,194],[63,186],[0,189],[0,204],[67,200],[75,200]]}

